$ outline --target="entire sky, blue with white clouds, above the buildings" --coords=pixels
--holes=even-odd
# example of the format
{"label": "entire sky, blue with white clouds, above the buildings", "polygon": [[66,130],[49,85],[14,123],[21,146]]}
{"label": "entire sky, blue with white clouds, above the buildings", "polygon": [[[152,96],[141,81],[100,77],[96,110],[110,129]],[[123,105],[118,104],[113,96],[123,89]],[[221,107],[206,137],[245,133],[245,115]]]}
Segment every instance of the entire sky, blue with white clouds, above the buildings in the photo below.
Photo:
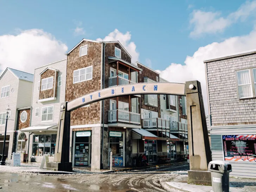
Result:
{"label": "entire sky, blue with white clouds, above the buildings", "polygon": [[0,0],[0,73],[65,58],[83,38],[119,40],[170,82],[199,80],[203,60],[256,49],[256,0]]}

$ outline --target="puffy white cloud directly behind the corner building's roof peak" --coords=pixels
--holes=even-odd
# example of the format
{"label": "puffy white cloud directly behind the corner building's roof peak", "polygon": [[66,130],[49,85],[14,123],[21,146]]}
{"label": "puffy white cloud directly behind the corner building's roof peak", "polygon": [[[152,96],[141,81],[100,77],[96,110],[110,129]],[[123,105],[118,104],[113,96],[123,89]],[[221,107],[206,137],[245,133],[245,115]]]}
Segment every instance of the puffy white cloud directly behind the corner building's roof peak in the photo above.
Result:
{"label": "puffy white cloud directly behind the corner building's roof peak", "polygon": [[113,32],[109,33],[108,36],[104,37],[103,39],[98,38],[97,41],[119,41],[124,48],[128,51],[128,53],[132,56],[132,62],[136,62],[139,60],[139,52],[136,50],[136,45],[131,40],[130,32],[126,32],[125,34],[121,33],[117,29]]}

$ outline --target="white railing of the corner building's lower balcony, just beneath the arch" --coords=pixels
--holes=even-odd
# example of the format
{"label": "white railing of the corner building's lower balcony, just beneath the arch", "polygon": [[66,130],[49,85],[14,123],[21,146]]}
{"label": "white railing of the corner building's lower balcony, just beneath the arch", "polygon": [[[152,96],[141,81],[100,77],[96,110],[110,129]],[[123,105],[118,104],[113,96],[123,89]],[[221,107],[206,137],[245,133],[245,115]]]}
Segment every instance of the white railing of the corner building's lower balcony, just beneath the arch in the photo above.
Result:
{"label": "white railing of the corner building's lower balcony, just beneath the arch", "polygon": [[120,109],[110,110],[108,111],[108,122],[125,122],[140,124],[140,114]]}

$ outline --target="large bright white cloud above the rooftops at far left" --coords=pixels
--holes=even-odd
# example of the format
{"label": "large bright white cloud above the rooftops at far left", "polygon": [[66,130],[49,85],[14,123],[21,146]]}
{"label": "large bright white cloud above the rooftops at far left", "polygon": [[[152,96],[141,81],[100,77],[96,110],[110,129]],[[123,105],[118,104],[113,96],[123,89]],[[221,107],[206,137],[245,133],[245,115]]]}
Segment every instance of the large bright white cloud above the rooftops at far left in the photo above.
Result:
{"label": "large bright white cloud above the rooftops at far left", "polygon": [[63,59],[68,47],[40,29],[0,36],[0,71],[9,68],[34,73],[34,68]]}

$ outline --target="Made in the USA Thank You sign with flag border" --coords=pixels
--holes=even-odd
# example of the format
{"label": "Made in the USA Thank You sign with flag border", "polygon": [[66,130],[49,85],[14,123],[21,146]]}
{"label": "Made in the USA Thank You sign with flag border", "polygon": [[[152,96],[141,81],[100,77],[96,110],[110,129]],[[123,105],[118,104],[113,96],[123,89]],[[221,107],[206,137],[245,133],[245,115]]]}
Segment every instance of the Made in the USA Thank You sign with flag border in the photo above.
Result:
{"label": "Made in the USA Thank You sign with flag border", "polygon": [[225,161],[256,162],[256,135],[222,135]]}

